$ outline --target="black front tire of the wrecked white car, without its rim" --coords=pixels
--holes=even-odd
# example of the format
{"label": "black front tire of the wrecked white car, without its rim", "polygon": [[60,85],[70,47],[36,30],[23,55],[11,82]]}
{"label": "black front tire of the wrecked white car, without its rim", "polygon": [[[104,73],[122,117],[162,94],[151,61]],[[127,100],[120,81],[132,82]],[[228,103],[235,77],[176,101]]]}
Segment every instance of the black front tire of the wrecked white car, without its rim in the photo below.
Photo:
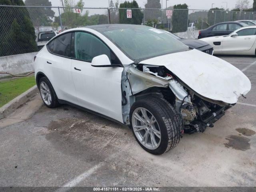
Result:
{"label": "black front tire of the wrecked white car, without its rim", "polygon": [[[138,138],[136,137],[132,125],[132,113],[136,108],[146,108],[150,111],[156,118],[159,128],[161,131],[161,141],[158,148],[150,150],[143,146]],[[181,132],[183,130],[182,119],[179,114],[174,110],[174,108],[163,98],[151,97],[143,98],[136,102],[131,107],[130,110],[130,125],[134,137],[144,150],[150,152],[151,154],[160,155],[168,152],[177,146],[180,141]]]}

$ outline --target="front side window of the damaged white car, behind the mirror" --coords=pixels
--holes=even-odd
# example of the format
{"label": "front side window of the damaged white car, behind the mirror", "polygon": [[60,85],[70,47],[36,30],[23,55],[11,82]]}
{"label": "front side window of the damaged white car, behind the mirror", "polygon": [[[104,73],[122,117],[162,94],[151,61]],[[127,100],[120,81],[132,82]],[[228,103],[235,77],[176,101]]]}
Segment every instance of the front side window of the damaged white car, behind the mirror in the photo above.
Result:
{"label": "front side window of the damaged white car, behind the mirror", "polygon": [[112,51],[99,38],[92,34],[75,32],[74,47],[74,57],[77,59],[92,62],[94,57],[105,54],[112,64],[120,63]]}

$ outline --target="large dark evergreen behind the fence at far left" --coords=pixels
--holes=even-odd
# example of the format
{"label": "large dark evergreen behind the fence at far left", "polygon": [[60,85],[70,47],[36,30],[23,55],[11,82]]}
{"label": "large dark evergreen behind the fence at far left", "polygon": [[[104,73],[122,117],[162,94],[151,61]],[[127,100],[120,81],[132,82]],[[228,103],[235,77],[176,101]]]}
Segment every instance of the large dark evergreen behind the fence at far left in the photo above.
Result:
{"label": "large dark evergreen behind the fence at far left", "polygon": [[[2,5],[24,6],[22,0],[0,0]],[[35,28],[25,7],[0,7],[0,56],[37,51]]]}

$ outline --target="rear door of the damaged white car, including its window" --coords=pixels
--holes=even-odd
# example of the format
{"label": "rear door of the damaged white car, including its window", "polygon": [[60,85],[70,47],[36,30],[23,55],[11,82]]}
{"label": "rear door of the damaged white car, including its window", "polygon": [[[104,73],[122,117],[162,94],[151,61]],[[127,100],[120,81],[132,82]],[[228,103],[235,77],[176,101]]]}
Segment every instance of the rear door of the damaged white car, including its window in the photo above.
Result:
{"label": "rear door of the damaged white car, including its window", "polygon": [[45,65],[48,66],[46,76],[49,78],[58,99],[76,102],[76,91],[71,75],[71,36],[66,33],[54,38],[47,44]]}

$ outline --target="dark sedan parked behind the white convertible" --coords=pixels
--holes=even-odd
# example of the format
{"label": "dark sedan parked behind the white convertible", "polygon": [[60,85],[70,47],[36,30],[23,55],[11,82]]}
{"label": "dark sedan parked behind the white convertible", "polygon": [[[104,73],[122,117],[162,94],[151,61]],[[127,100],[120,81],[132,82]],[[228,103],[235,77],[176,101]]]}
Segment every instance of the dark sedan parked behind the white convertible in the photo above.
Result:
{"label": "dark sedan parked behind the white convertible", "polygon": [[218,23],[205,30],[200,30],[198,39],[212,36],[228,35],[234,30],[245,26],[248,25],[240,21]]}

